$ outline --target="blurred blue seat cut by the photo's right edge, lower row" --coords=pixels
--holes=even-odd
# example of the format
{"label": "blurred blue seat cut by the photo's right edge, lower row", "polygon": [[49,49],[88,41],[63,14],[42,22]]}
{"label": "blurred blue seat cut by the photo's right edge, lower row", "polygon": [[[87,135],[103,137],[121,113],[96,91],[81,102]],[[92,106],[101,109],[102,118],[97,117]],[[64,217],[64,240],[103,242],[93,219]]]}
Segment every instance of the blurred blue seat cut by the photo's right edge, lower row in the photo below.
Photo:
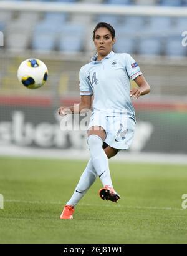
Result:
{"label": "blurred blue seat cut by the photo's right edge, lower row", "polygon": [[186,47],[182,45],[181,37],[171,36],[166,41],[166,52],[167,56],[186,56]]}

